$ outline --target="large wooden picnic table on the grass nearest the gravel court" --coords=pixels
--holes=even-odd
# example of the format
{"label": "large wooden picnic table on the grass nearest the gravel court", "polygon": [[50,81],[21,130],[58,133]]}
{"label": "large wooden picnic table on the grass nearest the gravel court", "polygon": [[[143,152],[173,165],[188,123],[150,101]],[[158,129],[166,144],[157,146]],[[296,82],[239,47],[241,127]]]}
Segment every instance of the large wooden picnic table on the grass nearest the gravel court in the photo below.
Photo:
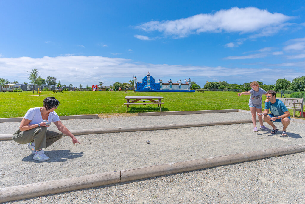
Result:
{"label": "large wooden picnic table on the grass nearest the gravel court", "polygon": [[127,105],[126,112],[128,112],[129,105],[156,104],[158,107],[160,106],[160,112],[162,112],[162,104],[164,104],[161,102],[162,98],[161,96],[126,96],[127,103],[124,103],[124,105]]}

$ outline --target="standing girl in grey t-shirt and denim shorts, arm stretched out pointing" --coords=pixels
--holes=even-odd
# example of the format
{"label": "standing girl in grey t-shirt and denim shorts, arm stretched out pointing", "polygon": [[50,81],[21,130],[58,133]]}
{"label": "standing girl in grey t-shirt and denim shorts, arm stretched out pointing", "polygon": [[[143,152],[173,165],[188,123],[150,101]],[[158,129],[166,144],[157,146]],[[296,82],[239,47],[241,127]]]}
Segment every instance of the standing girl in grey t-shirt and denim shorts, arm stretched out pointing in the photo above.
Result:
{"label": "standing girl in grey t-shirt and denim shorts, arm stretched out pointing", "polygon": [[[259,87],[260,85],[257,83],[257,81],[253,81],[250,83],[250,87],[252,88],[250,91],[245,91],[241,93],[237,93],[238,96],[241,95],[251,95],[249,98],[249,108],[252,114],[252,123],[253,123],[253,131],[257,132],[256,127],[256,113],[262,112],[262,96],[263,94],[266,95],[267,92]],[[260,128],[264,130],[269,130],[266,126],[263,124],[263,118],[259,117],[258,121],[260,122]]]}

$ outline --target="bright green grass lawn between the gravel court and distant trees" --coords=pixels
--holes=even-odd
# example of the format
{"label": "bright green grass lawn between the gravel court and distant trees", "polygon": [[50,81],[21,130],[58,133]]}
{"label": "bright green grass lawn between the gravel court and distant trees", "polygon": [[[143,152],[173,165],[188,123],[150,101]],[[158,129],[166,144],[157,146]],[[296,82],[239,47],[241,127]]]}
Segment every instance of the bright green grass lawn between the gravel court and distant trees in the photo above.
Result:
{"label": "bright green grass lawn between the gravel court and distant trees", "polygon": [[[23,117],[28,109],[43,106],[43,99],[55,97],[60,104],[58,115],[85,115],[100,113],[125,113],[125,96],[162,96],[162,111],[181,110],[212,110],[212,109],[243,109],[249,110],[249,95],[237,96],[237,92],[205,91],[195,93],[185,92],[137,92],[128,91],[41,91],[41,95],[31,91],[0,92],[0,118]],[[277,95],[280,97],[280,94]],[[288,96],[287,96],[288,97]],[[265,97],[263,96],[263,100]],[[264,103],[263,103],[264,104]],[[264,107],[263,107],[264,109]],[[157,105],[133,105],[128,113],[157,112]],[[293,115],[293,110],[289,109]],[[291,116],[292,116],[291,115]],[[300,114],[298,113],[298,118]],[[250,118],[250,117],[249,117]]]}

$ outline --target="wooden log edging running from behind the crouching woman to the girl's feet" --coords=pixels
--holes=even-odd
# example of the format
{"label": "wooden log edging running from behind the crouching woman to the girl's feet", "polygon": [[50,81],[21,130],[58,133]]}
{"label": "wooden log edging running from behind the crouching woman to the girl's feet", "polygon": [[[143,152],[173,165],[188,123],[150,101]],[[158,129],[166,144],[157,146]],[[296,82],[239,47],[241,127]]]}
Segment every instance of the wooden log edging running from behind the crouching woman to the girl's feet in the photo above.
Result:
{"label": "wooden log edging running from behind the crouching woman to the girl's feet", "polygon": [[[89,134],[103,134],[103,133],[113,133],[113,132],[136,132],[136,131],[149,131],[149,130],[167,130],[167,129],[176,129],[176,128],[203,127],[203,126],[213,126],[213,125],[231,125],[231,124],[241,124],[241,123],[252,123],[252,120],[168,124],[168,125],[146,125],[146,126],[120,127],[120,128],[81,129],[81,130],[70,130],[70,132],[72,132],[73,135],[89,135]],[[0,134],[0,141],[11,140],[12,136],[13,133],[3,134],[3,135]]]}

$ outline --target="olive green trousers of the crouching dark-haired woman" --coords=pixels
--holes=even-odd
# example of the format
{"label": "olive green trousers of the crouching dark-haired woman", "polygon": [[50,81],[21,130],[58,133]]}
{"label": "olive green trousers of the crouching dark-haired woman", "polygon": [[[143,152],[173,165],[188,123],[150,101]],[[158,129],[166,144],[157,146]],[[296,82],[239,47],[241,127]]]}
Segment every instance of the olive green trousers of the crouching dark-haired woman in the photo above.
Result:
{"label": "olive green trousers of the crouching dark-haired woman", "polygon": [[45,126],[38,126],[30,130],[20,131],[19,129],[13,134],[13,140],[19,144],[32,143],[35,149],[40,150],[49,147],[57,140],[63,137],[63,133],[47,130]]}

